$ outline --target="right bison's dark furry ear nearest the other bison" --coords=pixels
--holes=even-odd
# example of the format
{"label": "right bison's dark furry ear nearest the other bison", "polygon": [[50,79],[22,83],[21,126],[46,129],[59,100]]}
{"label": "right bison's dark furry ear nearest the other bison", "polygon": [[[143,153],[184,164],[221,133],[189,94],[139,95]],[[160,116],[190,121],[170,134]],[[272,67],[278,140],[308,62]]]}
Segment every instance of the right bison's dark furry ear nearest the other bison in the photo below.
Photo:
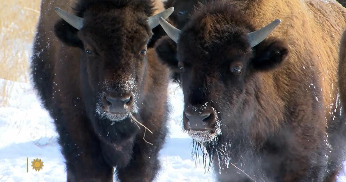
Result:
{"label": "right bison's dark furry ear nearest the other bison", "polygon": [[180,69],[178,59],[176,58],[176,43],[169,36],[164,36],[155,44],[155,51],[158,58],[172,71],[171,78],[173,81],[180,83]]}

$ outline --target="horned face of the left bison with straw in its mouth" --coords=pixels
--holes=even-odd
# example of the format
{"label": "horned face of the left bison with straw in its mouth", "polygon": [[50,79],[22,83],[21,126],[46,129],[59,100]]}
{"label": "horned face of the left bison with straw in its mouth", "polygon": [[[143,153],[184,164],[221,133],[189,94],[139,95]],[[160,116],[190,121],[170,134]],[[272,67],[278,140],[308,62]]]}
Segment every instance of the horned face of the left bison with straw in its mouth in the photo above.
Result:
{"label": "horned face of the left bison with straw in its mouth", "polygon": [[[86,10],[83,18],[56,8],[62,17],[55,25],[57,37],[80,48],[84,101],[103,119],[121,121],[138,112],[148,64],[147,43],[158,17],[167,18],[169,8],[149,17],[135,9]],[[86,107],[88,107],[86,106]]]}

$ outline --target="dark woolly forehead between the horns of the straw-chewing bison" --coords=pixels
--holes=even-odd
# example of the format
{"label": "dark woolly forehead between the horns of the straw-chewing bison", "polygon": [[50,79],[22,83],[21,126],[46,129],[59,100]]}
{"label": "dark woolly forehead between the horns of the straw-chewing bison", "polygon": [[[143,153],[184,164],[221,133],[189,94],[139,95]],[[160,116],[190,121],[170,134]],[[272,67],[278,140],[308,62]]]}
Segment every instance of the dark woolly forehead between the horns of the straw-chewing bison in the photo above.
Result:
{"label": "dark woolly forehead between the horns of the straw-chewing bison", "polygon": [[107,40],[101,42],[105,46],[126,43],[145,45],[153,35],[147,20],[144,12],[130,8],[108,11],[92,8],[84,13],[84,26],[81,31],[84,36],[93,37],[95,40]]}

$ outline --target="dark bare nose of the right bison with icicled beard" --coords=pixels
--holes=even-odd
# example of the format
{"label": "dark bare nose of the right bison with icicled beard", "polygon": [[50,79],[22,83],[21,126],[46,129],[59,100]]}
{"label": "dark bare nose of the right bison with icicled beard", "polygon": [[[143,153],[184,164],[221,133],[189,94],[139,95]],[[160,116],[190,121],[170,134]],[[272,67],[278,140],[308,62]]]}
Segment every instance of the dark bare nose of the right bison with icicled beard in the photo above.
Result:
{"label": "dark bare nose of the right bison with icicled beard", "polygon": [[203,113],[203,114],[189,114],[185,113],[186,118],[188,118],[188,125],[192,130],[204,130],[206,129],[206,125],[208,124],[208,118],[211,113]]}

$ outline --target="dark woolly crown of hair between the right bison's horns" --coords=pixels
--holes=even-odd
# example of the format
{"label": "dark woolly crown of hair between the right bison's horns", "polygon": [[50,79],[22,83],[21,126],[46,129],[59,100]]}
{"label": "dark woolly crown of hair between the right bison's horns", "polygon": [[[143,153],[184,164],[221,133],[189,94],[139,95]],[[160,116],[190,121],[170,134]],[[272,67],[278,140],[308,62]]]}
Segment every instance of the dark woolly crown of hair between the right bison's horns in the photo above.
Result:
{"label": "dark woolly crown of hair between the right bison's horns", "polygon": [[[228,12],[199,12],[181,30],[178,53],[219,55],[245,55],[252,51],[247,34],[255,28],[246,19],[238,21]],[[227,16],[227,17],[226,17]],[[179,54],[178,54],[179,56]],[[184,60],[181,58],[180,60]]]}

